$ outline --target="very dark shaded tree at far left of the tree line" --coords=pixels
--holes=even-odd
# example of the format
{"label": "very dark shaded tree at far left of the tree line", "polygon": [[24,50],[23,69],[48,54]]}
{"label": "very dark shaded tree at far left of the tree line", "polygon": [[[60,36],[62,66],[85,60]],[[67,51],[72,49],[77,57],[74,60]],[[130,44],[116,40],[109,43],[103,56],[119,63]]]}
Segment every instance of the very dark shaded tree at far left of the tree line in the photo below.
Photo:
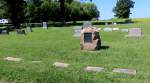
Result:
{"label": "very dark shaded tree at far left of the tree line", "polygon": [[24,22],[24,0],[4,0],[7,5],[7,17],[11,20],[15,28],[19,29]]}

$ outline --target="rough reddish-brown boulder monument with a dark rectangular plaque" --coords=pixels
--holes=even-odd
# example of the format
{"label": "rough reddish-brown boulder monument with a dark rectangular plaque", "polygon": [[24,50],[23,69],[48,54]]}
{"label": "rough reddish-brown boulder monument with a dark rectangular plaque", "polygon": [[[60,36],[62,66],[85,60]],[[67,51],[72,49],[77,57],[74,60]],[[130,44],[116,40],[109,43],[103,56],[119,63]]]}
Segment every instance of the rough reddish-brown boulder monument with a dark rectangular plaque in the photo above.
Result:
{"label": "rough reddish-brown boulder monument with a dark rectangular plaque", "polygon": [[84,28],[81,31],[80,48],[81,50],[99,50],[101,47],[101,39],[99,31],[94,27]]}

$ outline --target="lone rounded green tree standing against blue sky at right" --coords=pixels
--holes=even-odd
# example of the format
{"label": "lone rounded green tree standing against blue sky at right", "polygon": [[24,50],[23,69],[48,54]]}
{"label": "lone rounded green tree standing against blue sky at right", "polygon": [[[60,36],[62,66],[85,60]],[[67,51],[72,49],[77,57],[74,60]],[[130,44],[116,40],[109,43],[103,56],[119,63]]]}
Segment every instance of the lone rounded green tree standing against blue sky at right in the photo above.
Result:
{"label": "lone rounded green tree standing against blue sky at right", "polygon": [[118,0],[116,3],[116,7],[114,7],[113,12],[115,13],[115,17],[118,18],[129,18],[131,11],[130,8],[134,7],[134,3],[132,0]]}

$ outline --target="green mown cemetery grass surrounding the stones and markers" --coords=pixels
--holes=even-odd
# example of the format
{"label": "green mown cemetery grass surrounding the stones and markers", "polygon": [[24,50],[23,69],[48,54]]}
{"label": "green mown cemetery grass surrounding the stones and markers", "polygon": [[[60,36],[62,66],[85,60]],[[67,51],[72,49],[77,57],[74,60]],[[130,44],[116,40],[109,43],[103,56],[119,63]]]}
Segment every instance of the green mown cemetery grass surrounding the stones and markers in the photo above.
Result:
{"label": "green mown cemetery grass surrounding the stones and markers", "polygon": [[[100,31],[100,51],[81,51],[79,38],[73,37],[74,26],[34,28],[32,33],[0,35],[0,82],[9,83],[149,83],[150,20],[118,24],[121,28],[142,28],[144,37],[126,38],[121,31]],[[102,28],[104,26],[97,25]],[[5,57],[22,58],[20,62]],[[32,61],[41,61],[33,63]],[[69,63],[56,68],[54,62]],[[86,66],[103,67],[103,72],[86,72]],[[113,73],[113,68],[137,70],[136,75]]]}

